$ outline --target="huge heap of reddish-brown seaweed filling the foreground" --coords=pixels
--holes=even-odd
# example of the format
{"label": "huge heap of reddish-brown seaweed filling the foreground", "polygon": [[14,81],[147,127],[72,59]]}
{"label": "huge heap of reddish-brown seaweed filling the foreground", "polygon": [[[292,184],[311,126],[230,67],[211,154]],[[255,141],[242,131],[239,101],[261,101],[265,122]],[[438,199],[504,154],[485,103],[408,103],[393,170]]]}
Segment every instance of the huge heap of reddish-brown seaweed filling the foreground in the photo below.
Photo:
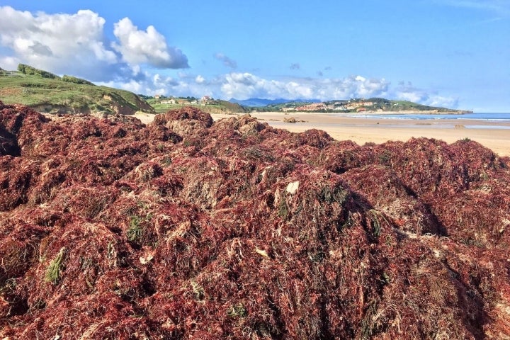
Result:
{"label": "huge heap of reddish-brown seaweed filling the foreground", "polygon": [[0,102],[0,339],[509,339],[509,166]]}

